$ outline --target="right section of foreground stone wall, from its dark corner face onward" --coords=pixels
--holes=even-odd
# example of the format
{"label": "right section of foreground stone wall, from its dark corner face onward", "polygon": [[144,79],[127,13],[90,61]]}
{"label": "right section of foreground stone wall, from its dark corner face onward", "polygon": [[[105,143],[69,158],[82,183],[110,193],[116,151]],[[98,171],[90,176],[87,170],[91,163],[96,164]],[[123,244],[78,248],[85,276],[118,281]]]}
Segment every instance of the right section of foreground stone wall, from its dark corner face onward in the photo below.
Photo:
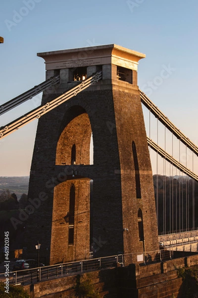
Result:
{"label": "right section of foreground stone wall, from its dark corner face onward", "polygon": [[[131,264],[117,268],[117,297],[122,298],[183,298],[185,283],[178,269],[198,264],[198,254],[149,265]],[[198,293],[197,289],[194,295]],[[197,296],[189,296],[197,297]]]}

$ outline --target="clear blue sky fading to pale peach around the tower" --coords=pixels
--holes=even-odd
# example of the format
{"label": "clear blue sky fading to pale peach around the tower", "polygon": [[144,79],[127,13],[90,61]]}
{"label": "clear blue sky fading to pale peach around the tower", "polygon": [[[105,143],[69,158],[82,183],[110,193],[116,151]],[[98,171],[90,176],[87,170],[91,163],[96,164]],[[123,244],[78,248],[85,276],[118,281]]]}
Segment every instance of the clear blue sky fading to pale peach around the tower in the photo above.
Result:
{"label": "clear blue sky fading to pale peach around the tower", "polygon": [[[0,104],[45,80],[37,53],[115,43],[146,54],[140,89],[198,145],[197,0],[2,0],[0,36]],[[4,114],[0,126],[40,101]],[[29,175],[36,127],[0,141],[0,176]]]}

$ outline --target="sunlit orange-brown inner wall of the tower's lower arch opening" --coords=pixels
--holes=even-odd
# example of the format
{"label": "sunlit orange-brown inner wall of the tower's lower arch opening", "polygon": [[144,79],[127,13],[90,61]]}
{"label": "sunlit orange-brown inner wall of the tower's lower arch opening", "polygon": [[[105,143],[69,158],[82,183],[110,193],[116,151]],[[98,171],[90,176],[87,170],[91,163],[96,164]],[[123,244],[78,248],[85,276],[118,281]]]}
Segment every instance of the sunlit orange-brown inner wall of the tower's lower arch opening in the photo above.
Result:
{"label": "sunlit orange-brown inner wall of the tower's lower arch opening", "polygon": [[[69,195],[75,187],[74,245],[68,244]],[[50,263],[87,259],[90,252],[90,180],[73,179],[54,189]]]}

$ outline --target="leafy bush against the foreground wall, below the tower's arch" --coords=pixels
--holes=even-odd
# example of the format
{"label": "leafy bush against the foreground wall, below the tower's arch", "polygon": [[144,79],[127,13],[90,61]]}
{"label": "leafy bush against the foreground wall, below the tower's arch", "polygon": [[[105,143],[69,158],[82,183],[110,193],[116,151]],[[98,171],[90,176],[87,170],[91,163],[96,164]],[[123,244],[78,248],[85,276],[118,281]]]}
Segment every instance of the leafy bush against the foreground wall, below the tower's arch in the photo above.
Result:
{"label": "leafy bush against the foreground wall, below the tower's arch", "polygon": [[94,289],[94,284],[90,279],[80,282],[80,278],[77,277],[76,285],[76,297],[78,298],[99,298],[99,293]]}

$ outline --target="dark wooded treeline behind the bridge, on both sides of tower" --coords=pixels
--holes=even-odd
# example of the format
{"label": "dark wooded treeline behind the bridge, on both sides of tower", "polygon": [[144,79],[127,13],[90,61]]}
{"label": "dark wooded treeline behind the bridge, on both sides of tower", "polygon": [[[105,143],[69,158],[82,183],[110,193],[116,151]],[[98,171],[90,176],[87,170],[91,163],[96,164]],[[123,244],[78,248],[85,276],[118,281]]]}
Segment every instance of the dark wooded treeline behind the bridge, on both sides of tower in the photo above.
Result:
{"label": "dark wooded treeline behind the bridge, on both sides of tower", "polygon": [[[153,175],[153,185],[159,233],[198,227],[198,182],[187,176]],[[27,194],[18,199],[8,189],[0,193],[0,242],[5,230],[9,230],[13,240],[20,239],[25,224],[18,224],[16,230],[10,218],[18,218],[20,210],[25,210],[27,205]]]}

